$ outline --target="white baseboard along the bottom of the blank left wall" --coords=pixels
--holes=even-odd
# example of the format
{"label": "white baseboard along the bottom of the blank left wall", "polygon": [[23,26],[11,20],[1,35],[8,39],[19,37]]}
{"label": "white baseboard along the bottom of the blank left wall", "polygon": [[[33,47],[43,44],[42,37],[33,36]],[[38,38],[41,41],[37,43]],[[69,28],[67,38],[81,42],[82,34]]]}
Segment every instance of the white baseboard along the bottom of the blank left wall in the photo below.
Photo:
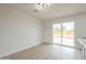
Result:
{"label": "white baseboard along the bottom of the blank left wall", "polygon": [[3,59],[3,57],[5,57],[5,56],[11,55],[11,54],[16,53],[16,52],[21,52],[21,51],[23,51],[23,50],[33,48],[33,47],[35,47],[35,46],[37,46],[37,44],[40,44],[40,43],[35,43],[35,44],[32,44],[32,46],[28,46],[28,47],[21,48],[21,49],[16,50],[16,51],[12,51],[12,52],[5,53],[5,54],[3,54],[3,55],[0,55],[0,59]]}

